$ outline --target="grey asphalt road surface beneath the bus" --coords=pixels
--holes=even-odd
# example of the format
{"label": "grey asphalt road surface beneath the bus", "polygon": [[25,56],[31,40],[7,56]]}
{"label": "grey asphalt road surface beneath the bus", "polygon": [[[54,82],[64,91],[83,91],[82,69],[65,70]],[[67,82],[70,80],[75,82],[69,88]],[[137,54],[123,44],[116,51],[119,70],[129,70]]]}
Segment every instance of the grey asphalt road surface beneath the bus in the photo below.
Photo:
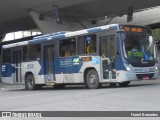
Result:
{"label": "grey asphalt road surface beneath the bus", "polygon": [[160,79],[134,81],[124,88],[104,85],[94,90],[76,85],[26,91],[21,85],[0,83],[0,111],[160,111]]}

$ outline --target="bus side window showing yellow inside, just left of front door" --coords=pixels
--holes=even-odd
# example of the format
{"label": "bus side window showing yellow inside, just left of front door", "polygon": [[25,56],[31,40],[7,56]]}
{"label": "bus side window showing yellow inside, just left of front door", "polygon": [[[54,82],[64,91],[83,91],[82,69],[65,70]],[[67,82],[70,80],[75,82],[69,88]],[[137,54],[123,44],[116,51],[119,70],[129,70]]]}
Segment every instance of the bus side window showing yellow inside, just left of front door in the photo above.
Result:
{"label": "bus side window showing yellow inside, just left of front door", "polygon": [[96,53],[96,35],[86,35],[78,38],[78,54]]}

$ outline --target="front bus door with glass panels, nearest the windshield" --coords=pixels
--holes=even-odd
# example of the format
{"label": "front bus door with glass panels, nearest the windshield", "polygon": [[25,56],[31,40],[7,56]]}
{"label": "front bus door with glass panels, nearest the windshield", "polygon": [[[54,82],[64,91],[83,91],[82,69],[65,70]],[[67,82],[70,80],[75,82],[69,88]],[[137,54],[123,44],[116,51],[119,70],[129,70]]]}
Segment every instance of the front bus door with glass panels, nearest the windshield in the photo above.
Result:
{"label": "front bus door with glass panels, nearest the windshield", "polygon": [[115,36],[100,37],[100,53],[101,53],[101,68],[103,80],[116,80],[115,69],[115,51],[116,42]]}

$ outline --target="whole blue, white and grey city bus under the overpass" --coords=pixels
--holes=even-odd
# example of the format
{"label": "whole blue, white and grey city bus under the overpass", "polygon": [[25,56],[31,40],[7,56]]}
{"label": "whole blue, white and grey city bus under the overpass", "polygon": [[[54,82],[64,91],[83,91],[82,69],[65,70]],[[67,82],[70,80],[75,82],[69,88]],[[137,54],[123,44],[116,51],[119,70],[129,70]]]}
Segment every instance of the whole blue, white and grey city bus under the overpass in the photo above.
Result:
{"label": "whole blue, white and grey city bus under the overpass", "polygon": [[148,27],[111,24],[58,32],[2,45],[1,80],[44,85],[127,86],[134,80],[158,78],[157,48]]}

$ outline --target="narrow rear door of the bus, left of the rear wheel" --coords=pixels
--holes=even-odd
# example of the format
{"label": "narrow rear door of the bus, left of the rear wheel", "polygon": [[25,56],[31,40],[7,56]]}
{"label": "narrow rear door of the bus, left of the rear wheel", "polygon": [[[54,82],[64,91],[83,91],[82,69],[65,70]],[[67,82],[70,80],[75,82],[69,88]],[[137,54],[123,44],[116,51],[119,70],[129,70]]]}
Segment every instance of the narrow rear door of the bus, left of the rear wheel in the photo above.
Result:
{"label": "narrow rear door of the bus, left of the rear wheel", "polygon": [[15,65],[14,81],[21,83],[21,51],[13,51],[13,64]]}

